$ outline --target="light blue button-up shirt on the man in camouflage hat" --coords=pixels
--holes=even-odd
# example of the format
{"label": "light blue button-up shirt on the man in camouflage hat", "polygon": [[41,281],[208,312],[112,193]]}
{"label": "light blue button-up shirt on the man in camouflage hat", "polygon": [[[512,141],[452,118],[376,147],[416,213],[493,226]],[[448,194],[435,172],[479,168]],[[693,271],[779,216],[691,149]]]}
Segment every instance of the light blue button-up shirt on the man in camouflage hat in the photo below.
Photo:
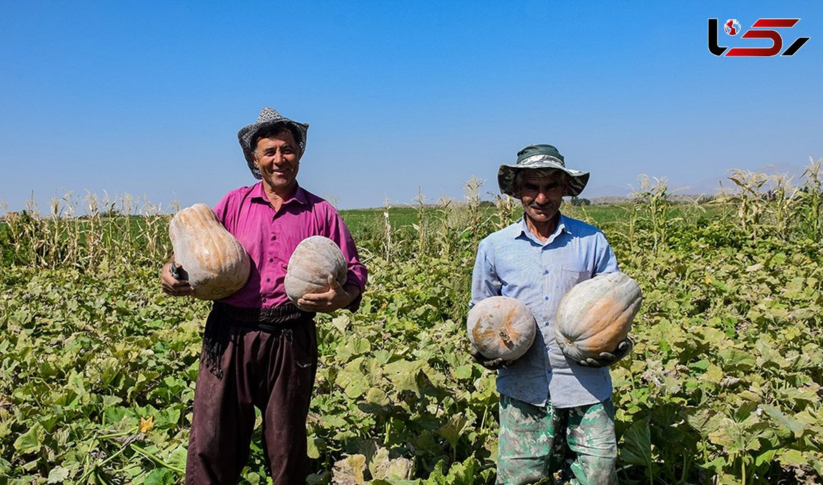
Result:
{"label": "light blue button-up shirt on the man in camouflage hat", "polygon": [[556,344],[554,320],[560,298],[574,284],[617,271],[606,236],[592,225],[560,215],[545,243],[529,232],[525,216],[491,233],[477,247],[472,302],[492,296],[517,298],[537,320],[534,344],[523,357],[500,369],[500,394],[537,406],[571,408],[611,396],[608,367],[584,367]]}

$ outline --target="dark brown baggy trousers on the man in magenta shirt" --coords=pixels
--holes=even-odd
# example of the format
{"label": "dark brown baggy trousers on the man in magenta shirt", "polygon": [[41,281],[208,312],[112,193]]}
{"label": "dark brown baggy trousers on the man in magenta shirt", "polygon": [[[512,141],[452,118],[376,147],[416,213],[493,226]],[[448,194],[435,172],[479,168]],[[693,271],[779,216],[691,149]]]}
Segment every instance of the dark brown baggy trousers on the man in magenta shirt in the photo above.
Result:
{"label": "dark brown baggy trousers on the man in magenta shirt", "polygon": [[238,482],[249,460],[254,407],[263,414],[263,453],[273,483],[305,483],[305,423],[318,361],[314,321],[282,331],[227,330],[221,378],[207,368],[205,346],[201,353],[186,483]]}

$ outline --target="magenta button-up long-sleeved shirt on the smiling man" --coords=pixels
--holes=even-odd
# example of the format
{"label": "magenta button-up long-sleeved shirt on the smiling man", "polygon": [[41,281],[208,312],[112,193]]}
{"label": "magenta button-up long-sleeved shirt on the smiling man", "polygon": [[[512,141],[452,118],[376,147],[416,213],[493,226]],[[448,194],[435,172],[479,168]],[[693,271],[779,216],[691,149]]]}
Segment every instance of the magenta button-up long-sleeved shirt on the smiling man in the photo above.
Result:
{"label": "magenta button-up long-sleeved shirt on the smiling man", "polygon": [[[275,211],[263,193],[263,182],[240,187],[214,206],[217,219],[239,240],[252,260],[249,281],[221,299],[235,307],[277,307],[289,301],[283,281],[291,253],[309,236],[332,239],[348,265],[346,284],[365,289],[367,271],[357,256],[357,247],[337,210],[319,196],[297,187],[294,196]],[[349,305],[360,306],[360,296]]]}

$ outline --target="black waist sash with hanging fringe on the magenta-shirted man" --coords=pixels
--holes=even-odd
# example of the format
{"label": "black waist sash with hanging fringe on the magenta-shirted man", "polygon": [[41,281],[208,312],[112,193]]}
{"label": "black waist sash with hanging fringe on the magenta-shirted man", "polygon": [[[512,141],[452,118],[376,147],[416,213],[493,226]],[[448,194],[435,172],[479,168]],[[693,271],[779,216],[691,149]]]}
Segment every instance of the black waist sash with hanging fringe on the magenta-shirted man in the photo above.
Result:
{"label": "black waist sash with hanging fringe on the magenta-shirted man", "polygon": [[291,341],[291,329],[314,320],[315,315],[314,312],[300,310],[291,302],[267,308],[241,308],[214,302],[203,332],[206,367],[218,379],[223,378],[220,361],[233,326],[283,335]]}

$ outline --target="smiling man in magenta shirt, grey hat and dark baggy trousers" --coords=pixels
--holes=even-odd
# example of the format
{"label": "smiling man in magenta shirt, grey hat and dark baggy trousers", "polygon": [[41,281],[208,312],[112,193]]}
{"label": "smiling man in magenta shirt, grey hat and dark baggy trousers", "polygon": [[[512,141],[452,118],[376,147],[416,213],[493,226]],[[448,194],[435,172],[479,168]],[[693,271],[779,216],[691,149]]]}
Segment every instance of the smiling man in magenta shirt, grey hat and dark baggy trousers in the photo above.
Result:
{"label": "smiling man in magenta shirt, grey hat and dark baggy trousers", "polygon": [[[245,286],[215,302],[207,318],[186,483],[237,483],[249,458],[254,407],[262,413],[263,452],[273,483],[305,482],[305,421],[318,362],[314,315],[355,311],[367,275],[337,210],[297,183],[308,128],[264,108],[237,134],[261,182],[229,192],[214,211],[253,265]],[[286,297],[283,280],[297,244],[314,235],[331,238],[342,250],[346,284],[329,275],[330,289],[300,298],[298,309]],[[191,294],[188,281],[171,275],[172,264],[163,267],[161,288],[174,296]]]}

